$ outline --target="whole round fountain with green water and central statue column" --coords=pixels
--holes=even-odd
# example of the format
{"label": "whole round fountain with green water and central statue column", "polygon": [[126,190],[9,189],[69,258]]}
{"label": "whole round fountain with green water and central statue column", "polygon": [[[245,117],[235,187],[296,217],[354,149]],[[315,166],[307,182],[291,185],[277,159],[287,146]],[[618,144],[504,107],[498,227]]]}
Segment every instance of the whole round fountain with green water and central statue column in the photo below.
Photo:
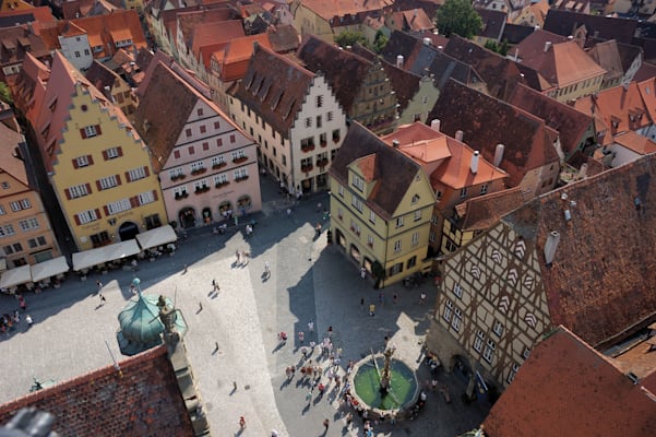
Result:
{"label": "whole round fountain with green water and central statue column", "polygon": [[395,347],[360,359],[351,371],[354,399],[371,418],[401,420],[419,399],[415,371],[403,361],[392,358]]}

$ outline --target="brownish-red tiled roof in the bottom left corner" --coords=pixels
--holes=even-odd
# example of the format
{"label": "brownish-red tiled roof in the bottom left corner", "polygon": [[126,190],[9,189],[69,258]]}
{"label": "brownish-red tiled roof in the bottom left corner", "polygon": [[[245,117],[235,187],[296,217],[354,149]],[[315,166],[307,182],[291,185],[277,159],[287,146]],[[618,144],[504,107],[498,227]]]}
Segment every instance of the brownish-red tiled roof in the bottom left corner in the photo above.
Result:
{"label": "brownish-red tiled roof in the bottom left corner", "polygon": [[194,435],[174,368],[162,345],[0,405],[0,423],[34,406],[55,416],[61,436]]}

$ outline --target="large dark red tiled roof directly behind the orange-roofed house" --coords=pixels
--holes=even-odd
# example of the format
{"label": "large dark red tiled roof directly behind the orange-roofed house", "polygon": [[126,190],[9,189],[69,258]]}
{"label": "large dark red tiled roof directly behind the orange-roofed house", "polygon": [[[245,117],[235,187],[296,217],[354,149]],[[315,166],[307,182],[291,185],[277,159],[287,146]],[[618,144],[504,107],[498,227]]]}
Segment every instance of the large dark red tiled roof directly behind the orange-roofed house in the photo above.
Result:
{"label": "large dark red tiled roof directly behind the orange-roofed house", "polygon": [[427,119],[440,120],[441,131],[451,137],[462,130],[464,142],[489,162],[493,161],[497,144],[504,144],[499,167],[509,174],[511,187],[534,168],[558,165],[553,146],[557,133],[541,119],[460,82],[448,83]]}

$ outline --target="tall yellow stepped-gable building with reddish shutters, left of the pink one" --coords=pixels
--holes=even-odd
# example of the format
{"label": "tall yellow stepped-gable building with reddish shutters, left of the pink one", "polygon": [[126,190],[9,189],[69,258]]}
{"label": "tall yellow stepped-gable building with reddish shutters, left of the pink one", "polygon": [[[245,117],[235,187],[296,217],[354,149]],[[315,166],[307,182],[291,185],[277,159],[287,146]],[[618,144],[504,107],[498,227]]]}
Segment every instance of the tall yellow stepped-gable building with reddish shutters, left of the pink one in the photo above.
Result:
{"label": "tall yellow stepped-gable building with reddish shutters, left of the pink one", "polygon": [[47,85],[33,83],[45,86],[45,94],[31,121],[77,248],[162,225],[166,212],[148,151],[123,113],[60,52]]}

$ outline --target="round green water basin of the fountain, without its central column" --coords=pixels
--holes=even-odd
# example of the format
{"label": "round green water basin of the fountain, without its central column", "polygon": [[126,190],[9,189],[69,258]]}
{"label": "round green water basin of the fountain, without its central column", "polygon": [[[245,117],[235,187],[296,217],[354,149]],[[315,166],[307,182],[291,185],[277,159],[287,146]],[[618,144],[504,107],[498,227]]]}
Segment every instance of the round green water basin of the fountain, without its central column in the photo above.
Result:
{"label": "round green water basin of the fountain, without its central column", "polygon": [[[373,364],[375,359],[377,366]],[[413,369],[398,359],[392,359],[390,370],[390,389],[382,392],[380,389],[380,371],[384,367],[385,359],[382,355],[375,355],[360,361],[354,368],[351,387],[356,399],[372,410],[377,415],[396,413],[417,401],[419,385]]]}

